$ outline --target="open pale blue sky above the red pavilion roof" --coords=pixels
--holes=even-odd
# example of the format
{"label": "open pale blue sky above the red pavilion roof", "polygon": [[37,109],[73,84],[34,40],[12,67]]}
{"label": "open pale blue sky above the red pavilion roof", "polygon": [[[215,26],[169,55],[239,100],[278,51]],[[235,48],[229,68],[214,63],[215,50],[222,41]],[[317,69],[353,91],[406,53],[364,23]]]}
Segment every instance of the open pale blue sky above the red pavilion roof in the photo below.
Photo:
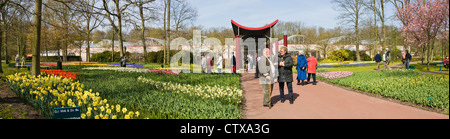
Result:
{"label": "open pale blue sky above the red pavilion roof", "polygon": [[[339,26],[331,0],[190,0],[198,10],[194,25],[205,28],[229,27],[231,20],[248,27],[261,27],[280,21],[300,21],[305,26],[334,28]],[[387,3],[386,15],[393,15]],[[387,22],[386,24],[393,24]]]}

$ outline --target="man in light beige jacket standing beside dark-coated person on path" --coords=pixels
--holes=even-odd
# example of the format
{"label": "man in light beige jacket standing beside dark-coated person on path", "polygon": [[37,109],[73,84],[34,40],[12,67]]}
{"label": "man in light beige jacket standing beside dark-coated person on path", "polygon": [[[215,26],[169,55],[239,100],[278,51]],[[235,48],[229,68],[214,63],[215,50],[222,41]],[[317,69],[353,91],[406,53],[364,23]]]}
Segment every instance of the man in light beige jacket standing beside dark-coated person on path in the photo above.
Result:
{"label": "man in light beige jacket standing beside dark-coated person on path", "polygon": [[272,90],[273,90],[273,83],[275,78],[275,67],[270,61],[270,50],[268,48],[265,48],[263,50],[264,55],[261,56],[259,66],[259,78],[260,84],[262,86],[264,97],[263,97],[263,106],[264,107],[272,107],[272,101],[270,100],[270,97],[272,96]]}

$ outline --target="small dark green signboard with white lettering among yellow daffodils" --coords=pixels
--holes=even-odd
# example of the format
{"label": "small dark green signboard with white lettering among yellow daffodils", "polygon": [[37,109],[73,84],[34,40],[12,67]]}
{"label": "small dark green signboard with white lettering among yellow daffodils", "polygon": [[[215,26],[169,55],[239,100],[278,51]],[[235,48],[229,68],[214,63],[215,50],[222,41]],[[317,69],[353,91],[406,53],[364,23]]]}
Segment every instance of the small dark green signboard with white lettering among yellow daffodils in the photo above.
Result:
{"label": "small dark green signboard with white lettering among yellow daffodils", "polygon": [[80,106],[54,108],[53,119],[81,119]]}

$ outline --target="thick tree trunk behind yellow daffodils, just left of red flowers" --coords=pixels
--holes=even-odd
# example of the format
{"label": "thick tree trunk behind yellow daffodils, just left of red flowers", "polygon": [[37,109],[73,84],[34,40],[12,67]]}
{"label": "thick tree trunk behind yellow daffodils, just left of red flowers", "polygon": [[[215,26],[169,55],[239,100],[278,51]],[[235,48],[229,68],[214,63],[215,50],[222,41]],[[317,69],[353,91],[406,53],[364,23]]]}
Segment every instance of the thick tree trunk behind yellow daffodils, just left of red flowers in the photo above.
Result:
{"label": "thick tree trunk behind yellow daffodils, just left of red flowers", "polygon": [[33,46],[33,60],[31,66],[31,74],[38,76],[41,72],[40,65],[40,50],[41,50],[41,13],[42,0],[35,0],[34,2],[34,46]]}

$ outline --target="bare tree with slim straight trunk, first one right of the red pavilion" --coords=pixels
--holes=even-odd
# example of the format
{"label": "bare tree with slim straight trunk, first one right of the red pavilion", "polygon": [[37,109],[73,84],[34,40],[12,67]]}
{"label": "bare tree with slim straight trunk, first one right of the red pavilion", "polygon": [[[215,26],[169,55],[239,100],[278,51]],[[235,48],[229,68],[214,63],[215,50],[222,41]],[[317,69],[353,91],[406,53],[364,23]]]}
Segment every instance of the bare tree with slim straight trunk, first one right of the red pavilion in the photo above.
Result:
{"label": "bare tree with slim straight trunk, first one right of the red pavilion", "polygon": [[360,0],[333,0],[336,7],[336,11],[341,12],[339,19],[342,20],[344,24],[351,24],[354,27],[354,34],[356,38],[356,61],[361,61],[359,56],[359,22],[362,15],[362,2]]}

